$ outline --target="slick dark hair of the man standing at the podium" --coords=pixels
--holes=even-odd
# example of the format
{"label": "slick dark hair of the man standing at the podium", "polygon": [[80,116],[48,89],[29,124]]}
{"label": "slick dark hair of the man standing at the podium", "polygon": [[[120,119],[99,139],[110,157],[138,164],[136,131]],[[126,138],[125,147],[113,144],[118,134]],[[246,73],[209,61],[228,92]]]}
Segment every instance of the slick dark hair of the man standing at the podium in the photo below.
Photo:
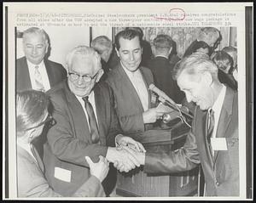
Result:
{"label": "slick dark hair of the man standing at the podium", "polygon": [[114,44],[115,44],[115,48],[117,50],[119,50],[119,48],[120,48],[119,39],[121,37],[124,38],[124,39],[128,39],[128,40],[131,40],[131,39],[133,39],[135,37],[138,37],[139,38],[139,42],[140,42],[140,46],[143,47],[143,45],[142,45],[143,38],[141,37],[140,32],[136,31],[133,28],[132,29],[131,28],[127,28],[124,31],[119,31],[119,33],[117,33],[117,35],[114,38]]}

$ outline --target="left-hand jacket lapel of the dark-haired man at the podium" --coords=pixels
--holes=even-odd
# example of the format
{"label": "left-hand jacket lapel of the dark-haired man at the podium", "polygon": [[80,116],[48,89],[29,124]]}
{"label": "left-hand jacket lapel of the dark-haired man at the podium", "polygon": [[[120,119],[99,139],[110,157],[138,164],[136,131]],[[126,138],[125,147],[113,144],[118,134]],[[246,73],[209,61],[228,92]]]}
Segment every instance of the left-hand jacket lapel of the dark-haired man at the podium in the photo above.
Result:
{"label": "left-hand jacket lapel of the dark-haired man at the podium", "polygon": [[123,67],[119,64],[118,67],[118,72],[119,72],[119,79],[120,85],[124,86],[124,89],[129,89],[131,90],[131,97],[133,98],[132,100],[134,101],[134,104],[140,104],[139,105],[139,109],[143,112],[143,104],[141,102],[141,99],[139,99],[139,96],[137,95],[136,89],[135,87],[133,87],[129,77],[127,76],[127,74],[125,73],[125,70],[123,69]]}

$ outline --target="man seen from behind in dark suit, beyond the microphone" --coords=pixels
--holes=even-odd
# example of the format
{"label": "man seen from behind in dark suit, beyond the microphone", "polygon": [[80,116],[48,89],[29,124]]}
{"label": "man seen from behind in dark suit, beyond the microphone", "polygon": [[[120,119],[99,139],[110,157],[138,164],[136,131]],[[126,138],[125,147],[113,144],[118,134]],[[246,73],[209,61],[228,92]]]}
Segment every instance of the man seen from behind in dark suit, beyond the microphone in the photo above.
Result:
{"label": "man seen from behind in dark suit, beyond the microphone", "polygon": [[168,59],[172,52],[172,38],[168,35],[158,35],[154,38],[152,51],[154,59],[148,60],[147,67],[153,73],[155,86],[176,103],[180,103],[183,93],[177,87],[177,82],[172,80],[173,66]]}

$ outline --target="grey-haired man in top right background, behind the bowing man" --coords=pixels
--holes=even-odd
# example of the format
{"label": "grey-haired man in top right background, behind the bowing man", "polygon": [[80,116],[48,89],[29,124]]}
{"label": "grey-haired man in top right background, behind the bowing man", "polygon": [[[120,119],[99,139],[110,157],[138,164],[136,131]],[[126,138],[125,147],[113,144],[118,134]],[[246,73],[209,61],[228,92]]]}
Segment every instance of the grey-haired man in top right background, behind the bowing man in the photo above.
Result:
{"label": "grey-haired man in top right background, behind the bowing man", "polygon": [[222,40],[222,37],[220,35],[220,32],[215,27],[203,27],[199,31],[199,35],[197,39],[192,42],[189,45],[189,48],[187,48],[186,52],[189,52],[189,50],[193,49],[196,42],[207,42],[209,45],[209,52],[208,55],[211,56],[211,54],[214,52],[216,48],[218,48],[219,42]]}

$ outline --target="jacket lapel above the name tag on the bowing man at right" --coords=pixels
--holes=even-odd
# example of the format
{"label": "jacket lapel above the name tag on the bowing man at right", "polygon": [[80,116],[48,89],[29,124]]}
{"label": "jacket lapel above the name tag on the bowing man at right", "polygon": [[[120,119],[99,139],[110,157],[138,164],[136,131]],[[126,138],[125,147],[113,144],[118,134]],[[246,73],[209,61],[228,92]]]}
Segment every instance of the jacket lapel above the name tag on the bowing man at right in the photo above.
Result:
{"label": "jacket lapel above the name tag on the bowing man at right", "polygon": [[[229,87],[227,87],[225,97],[224,97],[224,103],[220,111],[220,116],[218,120],[218,129],[216,133],[216,138],[227,138],[230,135],[229,133],[226,133],[226,132],[230,127],[233,100],[234,100],[234,93],[232,93],[232,90]],[[215,155],[214,155],[214,163],[217,157],[218,157],[218,150],[215,152]]]}

